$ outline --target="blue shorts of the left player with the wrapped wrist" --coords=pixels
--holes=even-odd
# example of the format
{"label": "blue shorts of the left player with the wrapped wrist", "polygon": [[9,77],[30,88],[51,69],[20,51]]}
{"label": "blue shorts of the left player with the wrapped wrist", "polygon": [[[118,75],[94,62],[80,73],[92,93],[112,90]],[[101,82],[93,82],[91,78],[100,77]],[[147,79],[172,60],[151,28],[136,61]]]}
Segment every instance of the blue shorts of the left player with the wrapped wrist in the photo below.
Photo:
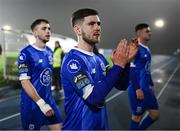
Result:
{"label": "blue shorts of the left player with the wrapped wrist", "polygon": [[43,125],[53,125],[62,122],[60,111],[55,103],[51,105],[55,115],[46,117],[39,107],[29,109],[31,106],[21,105],[21,122],[23,130],[40,130]]}

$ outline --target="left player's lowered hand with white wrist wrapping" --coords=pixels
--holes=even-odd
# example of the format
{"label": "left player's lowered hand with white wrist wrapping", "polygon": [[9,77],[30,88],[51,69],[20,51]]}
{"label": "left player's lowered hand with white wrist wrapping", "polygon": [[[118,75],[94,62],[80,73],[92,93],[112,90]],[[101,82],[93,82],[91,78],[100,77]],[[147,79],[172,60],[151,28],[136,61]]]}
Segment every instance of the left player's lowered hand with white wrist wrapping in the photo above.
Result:
{"label": "left player's lowered hand with white wrist wrapping", "polygon": [[51,106],[47,104],[43,99],[39,99],[36,103],[45,116],[51,117],[54,115],[54,111]]}

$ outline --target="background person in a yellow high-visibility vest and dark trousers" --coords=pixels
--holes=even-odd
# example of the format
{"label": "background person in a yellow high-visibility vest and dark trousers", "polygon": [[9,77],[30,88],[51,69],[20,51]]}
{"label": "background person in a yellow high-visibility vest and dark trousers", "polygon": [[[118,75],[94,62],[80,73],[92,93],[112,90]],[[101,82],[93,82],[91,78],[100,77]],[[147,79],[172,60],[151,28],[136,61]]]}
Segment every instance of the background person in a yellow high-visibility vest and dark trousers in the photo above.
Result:
{"label": "background person in a yellow high-visibility vest and dark trousers", "polygon": [[53,80],[52,80],[52,90],[56,89],[60,91],[61,88],[61,77],[60,77],[60,71],[61,71],[61,63],[62,59],[64,57],[63,50],[61,48],[61,45],[59,41],[55,41],[55,48],[53,53]]}

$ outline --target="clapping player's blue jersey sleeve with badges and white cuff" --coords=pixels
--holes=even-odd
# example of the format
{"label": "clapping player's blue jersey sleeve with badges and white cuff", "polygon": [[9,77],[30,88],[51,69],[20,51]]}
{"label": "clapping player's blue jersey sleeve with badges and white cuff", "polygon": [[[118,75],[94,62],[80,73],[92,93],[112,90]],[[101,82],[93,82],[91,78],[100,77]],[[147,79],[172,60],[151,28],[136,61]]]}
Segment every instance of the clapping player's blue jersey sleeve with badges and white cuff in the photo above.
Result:
{"label": "clapping player's blue jersey sleeve with badges and white cuff", "polygon": [[61,72],[62,78],[65,78],[83,99],[92,92],[93,80],[87,72],[87,67],[78,57],[65,59]]}

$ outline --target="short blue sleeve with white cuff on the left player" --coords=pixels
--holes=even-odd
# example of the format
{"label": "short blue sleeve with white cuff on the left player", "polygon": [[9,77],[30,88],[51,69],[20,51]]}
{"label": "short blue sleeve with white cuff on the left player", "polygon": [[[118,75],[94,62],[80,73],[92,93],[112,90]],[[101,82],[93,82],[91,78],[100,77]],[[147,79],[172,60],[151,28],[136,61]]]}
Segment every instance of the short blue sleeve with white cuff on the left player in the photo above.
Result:
{"label": "short blue sleeve with white cuff on the left player", "polygon": [[31,79],[29,55],[26,51],[21,51],[18,56],[19,80]]}

